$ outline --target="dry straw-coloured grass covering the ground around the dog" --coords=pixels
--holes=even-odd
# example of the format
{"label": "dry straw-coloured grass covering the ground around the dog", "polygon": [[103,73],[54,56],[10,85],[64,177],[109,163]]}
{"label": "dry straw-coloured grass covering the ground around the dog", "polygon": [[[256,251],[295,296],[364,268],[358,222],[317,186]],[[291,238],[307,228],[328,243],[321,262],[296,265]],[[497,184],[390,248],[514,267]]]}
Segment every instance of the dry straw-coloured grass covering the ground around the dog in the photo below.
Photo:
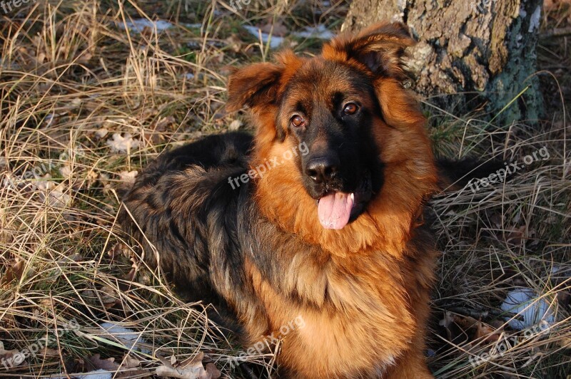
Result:
{"label": "dry straw-coloured grass covering the ground around the dog", "polygon": [[[129,356],[143,369],[160,365],[158,355],[180,361],[202,351],[225,377],[247,377],[228,364],[240,347],[220,338],[201,306],[176,298],[121,243],[117,190],[166,147],[225,130],[236,118],[246,122],[224,113],[226,66],[266,59],[268,48],[242,24],[299,29],[322,21],[338,29],[346,5],[253,1],[233,13],[227,4],[207,1],[120,4],[38,0],[0,23],[0,341],[6,351],[22,351],[66,321],[81,326],[52,341],[45,355],[14,368],[0,365],[0,376],[65,377],[91,370],[89,358],[96,353],[126,361],[128,344],[99,328],[111,321],[138,332],[138,352],[131,349]],[[560,26],[566,11],[553,11],[546,25]],[[175,26],[159,33],[118,27],[156,14]],[[196,23],[201,27],[191,25]],[[293,42],[297,51],[318,45]],[[567,41],[553,43],[542,45],[545,68],[552,56],[567,54],[569,63]],[[504,323],[500,303],[517,286],[544,296],[557,319],[548,336],[533,336],[476,366],[468,357],[478,348],[489,350],[485,337],[435,323],[431,365],[441,378],[571,373],[571,144],[560,96],[567,97],[571,81],[568,73],[553,71],[560,83],[545,76],[552,86],[546,91],[552,120],[541,128],[468,122],[430,110],[439,120],[432,130],[436,148],[449,157],[470,152],[521,161],[543,146],[550,152],[550,160],[526,166],[505,185],[435,198],[444,251],[436,321],[454,313],[497,328]],[[125,150],[114,152],[108,145],[114,133],[127,142],[129,133],[131,145],[119,144]],[[271,371],[269,357],[249,361],[254,371],[255,363]],[[127,373],[148,375],[141,368]]]}

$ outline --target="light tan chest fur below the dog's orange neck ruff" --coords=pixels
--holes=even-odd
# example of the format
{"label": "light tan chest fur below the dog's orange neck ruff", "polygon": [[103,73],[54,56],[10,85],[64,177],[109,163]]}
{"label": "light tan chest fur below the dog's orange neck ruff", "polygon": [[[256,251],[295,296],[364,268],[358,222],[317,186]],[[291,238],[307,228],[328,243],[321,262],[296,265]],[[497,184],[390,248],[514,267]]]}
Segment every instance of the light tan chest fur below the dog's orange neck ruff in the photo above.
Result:
{"label": "light tan chest fur below the dog's orange neck ruff", "polygon": [[246,276],[261,299],[261,313],[250,309],[243,318],[251,321],[251,342],[301,319],[303,326],[287,328],[279,357],[297,368],[295,375],[311,375],[305,371],[311,368],[317,377],[378,376],[407,348],[416,327],[403,262],[380,251],[335,256],[261,219],[248,225],[253,235],[270,228],[283,239],[244,246]]}

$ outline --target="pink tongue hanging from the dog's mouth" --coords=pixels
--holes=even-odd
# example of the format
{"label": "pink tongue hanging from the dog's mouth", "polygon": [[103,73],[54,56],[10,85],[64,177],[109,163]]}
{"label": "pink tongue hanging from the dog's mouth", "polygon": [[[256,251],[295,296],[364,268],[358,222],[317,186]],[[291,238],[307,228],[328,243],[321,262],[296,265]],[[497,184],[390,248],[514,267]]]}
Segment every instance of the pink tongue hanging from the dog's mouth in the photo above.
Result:
{"label": "pink tongue hanging from the dog's mouth", "polygon": [[335,192],[319,199],[317,214],[325,229],[342,229],[349,222],[354,200],[351,194]]}

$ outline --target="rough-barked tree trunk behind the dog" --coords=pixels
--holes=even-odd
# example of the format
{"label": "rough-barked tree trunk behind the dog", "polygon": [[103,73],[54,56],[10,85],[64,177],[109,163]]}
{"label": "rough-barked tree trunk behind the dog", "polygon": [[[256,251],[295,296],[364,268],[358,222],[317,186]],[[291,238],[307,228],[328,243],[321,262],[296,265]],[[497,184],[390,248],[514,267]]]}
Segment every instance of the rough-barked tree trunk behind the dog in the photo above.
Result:
{"label": "rough-barked tree trunk behind the dog", "polygon": [[407,24],[419,41],[409,62],[419,93],[457,115],[485,104],[488,120],[511,124],[542,114],[533,76],[541,9],[541,0],[353,0],[342,30]]}

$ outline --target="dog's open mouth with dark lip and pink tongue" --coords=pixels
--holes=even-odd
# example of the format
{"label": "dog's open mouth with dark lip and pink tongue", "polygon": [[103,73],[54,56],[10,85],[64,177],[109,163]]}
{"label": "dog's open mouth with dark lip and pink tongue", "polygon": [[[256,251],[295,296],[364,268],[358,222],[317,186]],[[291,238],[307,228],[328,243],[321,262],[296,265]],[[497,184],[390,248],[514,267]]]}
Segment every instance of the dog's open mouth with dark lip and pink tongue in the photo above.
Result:
{"label": "dog's open mouth with dark lip and pink tongue", "polygon": [[318,218],[325,229],[343,229],[365,209],[372,195],[370,172],[363,176],[355,192],[330,191],[318,199]]}

